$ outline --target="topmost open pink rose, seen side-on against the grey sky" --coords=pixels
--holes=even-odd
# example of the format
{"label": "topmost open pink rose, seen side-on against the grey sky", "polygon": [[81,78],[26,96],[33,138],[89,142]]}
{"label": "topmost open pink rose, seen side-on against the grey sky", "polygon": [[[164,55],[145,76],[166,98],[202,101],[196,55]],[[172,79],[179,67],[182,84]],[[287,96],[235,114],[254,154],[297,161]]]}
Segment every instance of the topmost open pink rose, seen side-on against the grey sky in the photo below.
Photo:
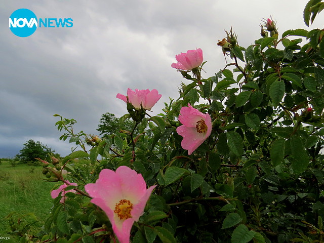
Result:
{"label": "topmost open pink rose, seen side-on against the grey sky", "polygon": [[203,51],[198,48],[196,50],[189,50],[187,53],[176,55],[177,63],[172,63],[171,67],[190,71],[195,67],[199,67],[203,63]]}

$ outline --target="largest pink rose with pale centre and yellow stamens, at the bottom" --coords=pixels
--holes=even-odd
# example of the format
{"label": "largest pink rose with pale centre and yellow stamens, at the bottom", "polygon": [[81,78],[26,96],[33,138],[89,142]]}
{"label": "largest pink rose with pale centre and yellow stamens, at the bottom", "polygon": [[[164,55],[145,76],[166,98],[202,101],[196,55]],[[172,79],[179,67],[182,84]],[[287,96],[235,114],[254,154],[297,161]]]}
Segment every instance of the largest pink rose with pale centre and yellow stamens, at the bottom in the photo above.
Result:
{"label": "largest pink rose with pale centre and yellow stamens, at the bottom", "polygon": [[143,214],[154,188],[146,189],[142,175],[126,166],[118,167],[116,172],[104,169],[96,183],[85,186],[93,197],[91,203],[107,214],[120,243],[130,242],[133,223]]}

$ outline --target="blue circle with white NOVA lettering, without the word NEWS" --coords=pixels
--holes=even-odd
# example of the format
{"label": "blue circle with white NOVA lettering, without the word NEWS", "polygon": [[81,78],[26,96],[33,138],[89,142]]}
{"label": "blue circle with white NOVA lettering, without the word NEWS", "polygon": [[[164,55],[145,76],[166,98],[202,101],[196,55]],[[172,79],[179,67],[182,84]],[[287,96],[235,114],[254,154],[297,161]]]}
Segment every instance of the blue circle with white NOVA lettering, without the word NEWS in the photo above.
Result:
{"label": "blue circle with white NOVA lettering, without the word NEWS", "polygon": [[17,9],[9,17],[11,32],[19,37],[27,37],[37,29],[37,17],[29,9]]}

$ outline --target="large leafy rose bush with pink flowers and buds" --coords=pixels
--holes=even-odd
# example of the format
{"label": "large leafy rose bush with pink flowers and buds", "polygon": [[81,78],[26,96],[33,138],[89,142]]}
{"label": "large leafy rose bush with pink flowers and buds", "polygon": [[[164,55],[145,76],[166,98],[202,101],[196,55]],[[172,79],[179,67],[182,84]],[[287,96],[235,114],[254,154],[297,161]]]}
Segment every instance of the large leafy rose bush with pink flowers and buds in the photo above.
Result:
{"label": "large leafy rose bush with pink flowers and buds", "polygon": [[[307,4],[307,25],[323,5]],[[163,113],[146,114],[155,90],[118,94],[131,131],[99,139],[55,115],[60,139],[81,149],[43,162],[65,199],[20,242],[323,242],[324,30],[279,36],[268,19],[261,35],[244,48],[226,31],[232,61],[208,78],[200,49],[177,55],[189,82]]]}

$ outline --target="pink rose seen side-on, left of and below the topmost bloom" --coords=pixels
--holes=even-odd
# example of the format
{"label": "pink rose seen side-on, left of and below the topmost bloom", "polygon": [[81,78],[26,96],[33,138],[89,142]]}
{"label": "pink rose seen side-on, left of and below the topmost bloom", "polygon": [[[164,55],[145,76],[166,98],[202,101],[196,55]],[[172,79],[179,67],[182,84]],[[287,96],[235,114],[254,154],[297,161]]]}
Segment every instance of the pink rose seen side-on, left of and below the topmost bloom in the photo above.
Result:
{"label": "pink rose seen side-on, left of and below the topmost bloom", "polygon": [[155,103],[161,98],[162,95],[158,94],[157,90],[131,90],[127,89],[127,96],[117,94],[116,98],[124,100],[126,103],[131,103],[135,109],[150,110]]}

